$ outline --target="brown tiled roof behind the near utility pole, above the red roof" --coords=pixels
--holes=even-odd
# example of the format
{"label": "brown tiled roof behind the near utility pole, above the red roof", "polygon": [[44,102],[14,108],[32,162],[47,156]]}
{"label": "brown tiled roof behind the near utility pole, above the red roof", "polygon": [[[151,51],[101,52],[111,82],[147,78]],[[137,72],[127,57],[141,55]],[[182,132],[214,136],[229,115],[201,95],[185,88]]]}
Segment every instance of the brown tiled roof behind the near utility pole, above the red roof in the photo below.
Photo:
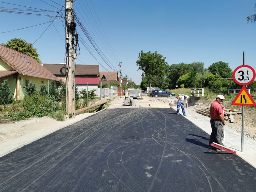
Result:
{"label": "brown tiled roof behind the near utility pole, above the red roof", "polygon": [[[54,75],[60,75],[60,68],[65,67],[65,64],[47,64],[43,65]],[[100,75],[99,65],[76,65],[75,75]]]}

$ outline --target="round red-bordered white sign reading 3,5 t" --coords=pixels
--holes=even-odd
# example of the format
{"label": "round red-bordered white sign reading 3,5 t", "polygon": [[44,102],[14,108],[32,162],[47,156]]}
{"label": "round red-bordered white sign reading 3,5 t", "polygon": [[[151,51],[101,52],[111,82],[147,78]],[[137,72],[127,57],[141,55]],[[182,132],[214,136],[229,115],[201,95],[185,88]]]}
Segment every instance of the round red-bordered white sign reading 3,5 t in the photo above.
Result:
{"label": "round red-bordered white sign reading 3,5 t", "polygon": [[233,80],[239,85],[248,85],[255,79],[255,70],[249,65],[240,65],[233,72]]}

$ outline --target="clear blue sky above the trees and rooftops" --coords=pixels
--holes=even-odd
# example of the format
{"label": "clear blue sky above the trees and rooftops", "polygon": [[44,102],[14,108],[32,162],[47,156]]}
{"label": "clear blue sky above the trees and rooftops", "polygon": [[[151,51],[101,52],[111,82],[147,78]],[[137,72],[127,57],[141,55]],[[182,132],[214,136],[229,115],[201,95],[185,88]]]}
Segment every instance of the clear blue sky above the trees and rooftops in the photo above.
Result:
{"label": "clear blue sky above the trees and rooftops", "polygon": [[[44,0],[48,4],[40,0],[0,1],[51,11],[60,10],[60,5],[65,4],[65,0]],[[245,51],[245,64],[256,68],[256,25],[246,22],[248,15],[256,13],[255,3],[255,0],[76,0],[74,10],[108,63],[119,71],[117,62],[122,62],[123,76],[127,74],[135,83],[140,83],[142,71],[137,71],[136,60],[141,50],[157,51],[166,57],[169,65],[199,61],[208,68],[214,62],[223,61],[228,62],[232,70],[243,64]],[[22,8],[4,3],[0,3],[0,7],[1,10],[2,7]],[[49,17],[0,14],[0,32],[50,21]],[[20,37],[33,43],[49,24],[0,33],[0,43]],[[54,26],[51,25],[33,45],[43,63],[64,62],[65,30],[61,19],[55,21]],[[90,44],[79,27],[77,31]],[[110,46],[112,51],[109,51]],[[81,42],[80,49],[77,64],[99,64]],[[96,58],[105,69],[112,71],[97,55]],[[100,71],[105,70],[103,67],[100,66]]]}

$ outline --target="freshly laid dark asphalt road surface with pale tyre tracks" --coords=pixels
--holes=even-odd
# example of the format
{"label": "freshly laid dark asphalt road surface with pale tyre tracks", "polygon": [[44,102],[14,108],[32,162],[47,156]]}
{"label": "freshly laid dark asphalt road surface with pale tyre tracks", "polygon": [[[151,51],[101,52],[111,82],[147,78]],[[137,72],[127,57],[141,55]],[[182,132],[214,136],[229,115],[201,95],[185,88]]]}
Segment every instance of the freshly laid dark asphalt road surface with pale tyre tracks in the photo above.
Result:
{"label": "freshly laid dark asphalt road surface with pale tyre tracks", "polygon": [[106,109],[1,157],[0,191],[255,191],[208,139],[170,108]]}

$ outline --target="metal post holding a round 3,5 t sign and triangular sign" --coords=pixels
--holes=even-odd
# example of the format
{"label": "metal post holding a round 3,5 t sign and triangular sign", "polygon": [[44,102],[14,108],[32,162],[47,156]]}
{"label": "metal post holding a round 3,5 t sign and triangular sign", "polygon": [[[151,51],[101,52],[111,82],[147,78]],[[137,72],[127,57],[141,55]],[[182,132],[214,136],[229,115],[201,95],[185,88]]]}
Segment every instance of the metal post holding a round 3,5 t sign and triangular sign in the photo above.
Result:
{"label": "metal post holding a round 3,5 t sign and triangular sign", "polygon": [[249,92],[244,85],[251,84],[255,79],[255,70],[249,65],[240,65],[233,72],[233,80],[243,85],[231,105],[241,105],[242,107],[242,132],[241,132],[241,152],[244,150],[244,106],[256,106]]}

